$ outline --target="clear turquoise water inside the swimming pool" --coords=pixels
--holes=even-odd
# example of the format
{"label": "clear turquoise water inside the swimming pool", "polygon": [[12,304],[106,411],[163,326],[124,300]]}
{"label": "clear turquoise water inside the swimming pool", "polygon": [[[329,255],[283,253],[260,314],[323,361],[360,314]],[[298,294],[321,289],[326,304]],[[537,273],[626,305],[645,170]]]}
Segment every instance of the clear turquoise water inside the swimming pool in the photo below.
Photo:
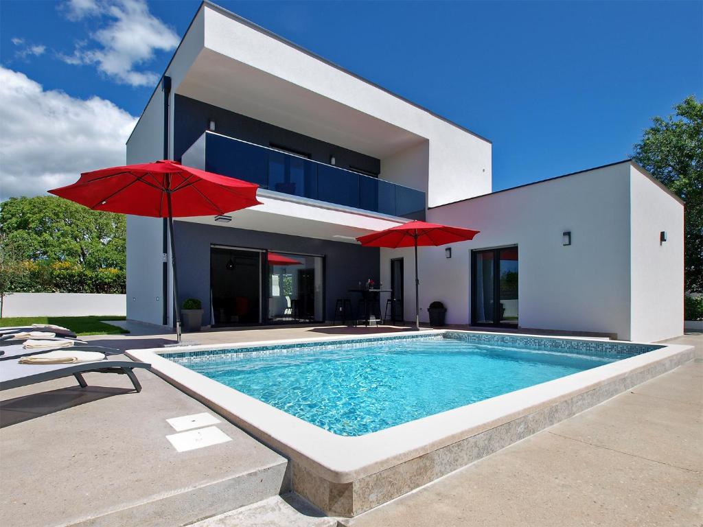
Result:
{"label": "clear turquoise water inside the swimming pool", "polygon": [[360,436],[621,358],[415,338],[172,360],[325,430]]}

